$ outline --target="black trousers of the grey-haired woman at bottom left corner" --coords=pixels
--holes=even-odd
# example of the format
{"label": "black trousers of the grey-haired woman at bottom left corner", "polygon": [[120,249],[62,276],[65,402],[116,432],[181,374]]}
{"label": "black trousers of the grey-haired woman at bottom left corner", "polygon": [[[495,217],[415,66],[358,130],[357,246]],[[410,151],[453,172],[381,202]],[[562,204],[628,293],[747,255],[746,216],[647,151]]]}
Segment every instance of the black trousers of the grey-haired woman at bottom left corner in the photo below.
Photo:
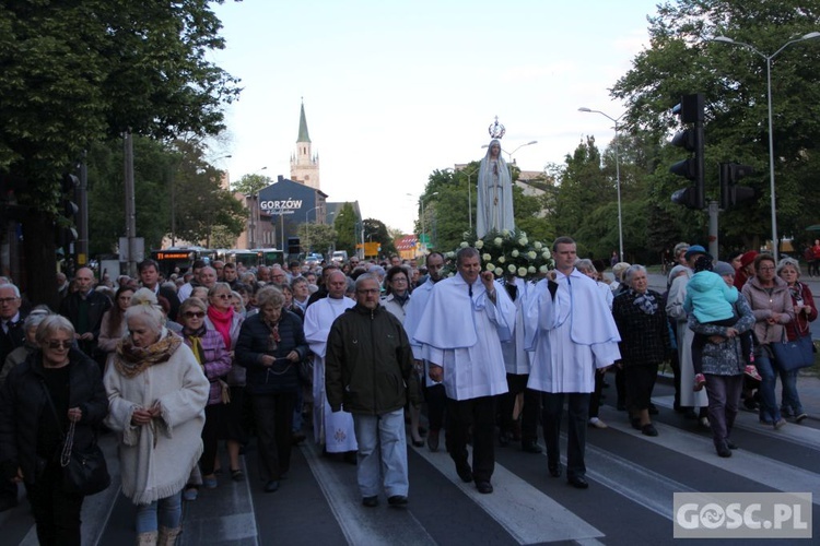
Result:
{"label": "black trousers of the grey-haired woman at bottom left corner", "polygon": [[62,490],[62,468],[51,462],[36,484],[25,484],[42,546],[80,546],[82,495]]}

